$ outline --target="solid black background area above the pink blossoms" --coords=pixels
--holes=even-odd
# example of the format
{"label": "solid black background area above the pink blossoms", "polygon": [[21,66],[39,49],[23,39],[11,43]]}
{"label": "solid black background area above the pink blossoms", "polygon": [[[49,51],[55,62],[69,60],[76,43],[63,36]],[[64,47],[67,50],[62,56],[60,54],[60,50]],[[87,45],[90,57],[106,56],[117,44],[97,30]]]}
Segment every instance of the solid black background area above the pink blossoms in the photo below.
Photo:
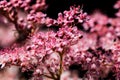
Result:
{"label": "solid black background area above the pink blossoms", "polygon": [[51,18],[57,18],[59,12],[68,10],[71,5],[83,5],[83,10],[88,14],[91,14],[96,9],[109,17],[114,17],[114,13],[117,11],[113,9],[113,5],[117,0],[46,0],[49,5],[46,10],[47,14]]}

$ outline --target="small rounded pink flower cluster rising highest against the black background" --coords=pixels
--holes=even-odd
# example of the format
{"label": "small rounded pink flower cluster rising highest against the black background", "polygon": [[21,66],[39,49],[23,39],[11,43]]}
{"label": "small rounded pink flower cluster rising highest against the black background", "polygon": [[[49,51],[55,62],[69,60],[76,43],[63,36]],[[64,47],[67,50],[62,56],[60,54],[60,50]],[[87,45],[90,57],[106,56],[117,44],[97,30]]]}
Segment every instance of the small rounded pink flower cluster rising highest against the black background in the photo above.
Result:
{"label": "small rounded pink flower cluster rising highest against the black background", "polygon": [[57,23],[62,26],[71,26],[83,23],[84,21],[87,21],[87,19],[87,13],[83,13],[83,11],[80,10],[80,6],[77,8],[72,6],[69,11],[64,11],[63,14],[58,14]]}

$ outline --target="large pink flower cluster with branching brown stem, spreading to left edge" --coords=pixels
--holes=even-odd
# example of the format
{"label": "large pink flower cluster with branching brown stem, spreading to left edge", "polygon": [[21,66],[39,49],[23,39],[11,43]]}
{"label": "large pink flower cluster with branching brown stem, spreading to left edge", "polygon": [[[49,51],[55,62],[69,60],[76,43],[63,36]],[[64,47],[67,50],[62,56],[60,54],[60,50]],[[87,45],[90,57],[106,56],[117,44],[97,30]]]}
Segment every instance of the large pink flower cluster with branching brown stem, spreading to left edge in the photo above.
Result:
{"label": "large pink flower cluster with branching brown stem, spreading to left edge", "polygon": [[59,79],[62,70],[68,67],[63,66],[63,63],[67,64],[64,57],[71,54],[71,46],[75,45],[81,36],[75,27],[62,28],[57,33],[37,33],[23,47],[14,46],[13,50],[1,50],[1,68],[12,64],[19,66],[22,71],[32,69],[35,80],[40,78],[39,75]]}

